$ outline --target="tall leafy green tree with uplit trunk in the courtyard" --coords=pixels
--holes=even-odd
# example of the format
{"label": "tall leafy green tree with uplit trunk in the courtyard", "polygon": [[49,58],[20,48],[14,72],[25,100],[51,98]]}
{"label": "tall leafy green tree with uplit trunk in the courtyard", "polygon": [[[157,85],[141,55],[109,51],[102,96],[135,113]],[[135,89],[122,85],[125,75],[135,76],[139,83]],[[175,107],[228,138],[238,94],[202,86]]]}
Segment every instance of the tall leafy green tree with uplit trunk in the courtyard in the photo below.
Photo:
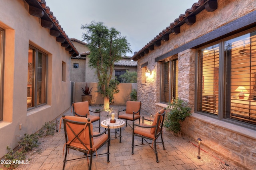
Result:
{"label": "tall leafy green tree with uplit trunk in the courtyard", "polygon": [[86,33],[82,38],[88,43],[90,49],[89,66],[96,69],[98,77],[98,92],[104,96],[104,109],[109,109],[110,96],[113,87],[110,80],[114,70],[114,63],[121,60],[127,52],[132,52],[126,37],[114,27],[108,28],[103,22],[92,21],[90,24],[81,26]]}

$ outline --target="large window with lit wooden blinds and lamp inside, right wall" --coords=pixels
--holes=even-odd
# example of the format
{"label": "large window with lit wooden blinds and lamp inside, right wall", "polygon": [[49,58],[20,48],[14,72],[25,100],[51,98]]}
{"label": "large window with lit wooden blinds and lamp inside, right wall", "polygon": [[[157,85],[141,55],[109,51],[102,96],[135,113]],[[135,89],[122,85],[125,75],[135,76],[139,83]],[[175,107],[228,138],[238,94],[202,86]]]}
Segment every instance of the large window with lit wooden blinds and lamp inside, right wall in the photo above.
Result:
{"label": "large window with lit wooden blinds and lamp inside, right wall", "polygon": [[198,50],[197,111],[256,125],[256,31]]}

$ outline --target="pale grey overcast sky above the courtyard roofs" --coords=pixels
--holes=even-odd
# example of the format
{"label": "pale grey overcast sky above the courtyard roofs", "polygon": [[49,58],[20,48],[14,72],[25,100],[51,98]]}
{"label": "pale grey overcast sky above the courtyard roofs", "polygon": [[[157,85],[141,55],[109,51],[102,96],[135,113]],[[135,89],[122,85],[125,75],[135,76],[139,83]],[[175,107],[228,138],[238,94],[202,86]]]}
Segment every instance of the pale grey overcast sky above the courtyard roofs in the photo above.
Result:
{"label": "pale grey overcast sky above the courtyard roofs", "polygon": [[[69,38],[82,41],[82,25],[103,22],[126,36],[133,56],[198,0],[45,0]],[[79,51],[84,52],[84,51]]]}

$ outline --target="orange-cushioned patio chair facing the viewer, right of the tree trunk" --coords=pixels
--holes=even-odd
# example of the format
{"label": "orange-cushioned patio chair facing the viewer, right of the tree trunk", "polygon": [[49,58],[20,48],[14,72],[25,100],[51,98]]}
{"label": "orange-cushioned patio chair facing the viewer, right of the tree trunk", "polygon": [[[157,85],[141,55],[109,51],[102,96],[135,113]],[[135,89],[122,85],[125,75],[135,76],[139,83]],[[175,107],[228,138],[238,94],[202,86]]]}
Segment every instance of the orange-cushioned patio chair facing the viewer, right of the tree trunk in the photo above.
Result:
{"label": "orange-cushioned patio chair facing the viewer, right of the tree trunk", "polygon": [[[140,123],[140,107],[141,107],[141,102],[127,101],[125,109],[123,110],[118,109],[118,119],[125,119],[126,127],[127,127],[127,120],[135,121],[139,119],[139,123]],[[120,112],[122,111],[125,111],[125,113],[120,115]],[[129,126],[131,127],[131,125]]]}

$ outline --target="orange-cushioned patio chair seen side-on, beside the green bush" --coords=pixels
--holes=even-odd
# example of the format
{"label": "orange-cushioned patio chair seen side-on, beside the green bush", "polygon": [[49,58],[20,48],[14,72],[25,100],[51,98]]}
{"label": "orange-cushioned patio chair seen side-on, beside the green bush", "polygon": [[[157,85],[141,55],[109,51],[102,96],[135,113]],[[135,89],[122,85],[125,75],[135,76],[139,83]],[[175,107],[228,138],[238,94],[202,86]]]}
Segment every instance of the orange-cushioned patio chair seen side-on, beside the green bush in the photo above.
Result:
{"label": "orange-cushioned patio chair seen side-on, beside the green bush", "polygon": [[[149,120],[145,119],[144,116],[142,117],[142,124],[137,125],[134,124],[134,121],[132,123],[132,154],[134,154],[133,150],[134,147],[140,146],[140,145],[150,145],[152,149],[154,150],[156,154],[156,162],[159,162],[158,156],[157,156],[157,151],[156,151],[156,143],[162,143],[163,149],[165,150],[164,147],[164,141],[163,141],[163,136],[162,136],[162,129],[163,129],[163,122],[164,122],[164,115],[165,115],[165,109],[161,109],[158,111],[155,115],[154,120]],[[153,121],[152,124],[145,124],[144,120],[147,121]],[[134,136],[138,136],[142,138],[142,143],[138,145],[134,145]],[[161,142],[156,142],[158,137],[161,136]],[[149,139],[152,141],[152,143],[148,143],[146,139]],[[143,143],[145,141],[146,143]],[[154,148],[153,148],[153,143],[154,143]]]}

